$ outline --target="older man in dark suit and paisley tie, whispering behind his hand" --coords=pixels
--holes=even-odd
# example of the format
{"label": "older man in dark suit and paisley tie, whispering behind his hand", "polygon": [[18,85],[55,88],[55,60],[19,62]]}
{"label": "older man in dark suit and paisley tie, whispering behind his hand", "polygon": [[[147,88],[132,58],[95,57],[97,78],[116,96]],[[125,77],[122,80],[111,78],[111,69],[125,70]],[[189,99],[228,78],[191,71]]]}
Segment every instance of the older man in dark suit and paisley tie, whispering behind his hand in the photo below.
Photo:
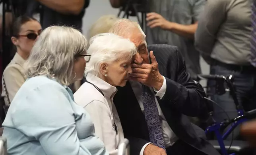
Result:
{"label": "older man in dark suit and paisley tie, whispering behind his hand", "polygon": [[147,46],[140,26],[128,19],[110,32],[138,47],[130,80],[114,97],[131,155],[219,155],[186,117],[204,110],[205,93],[190,79],[177,47]]}

